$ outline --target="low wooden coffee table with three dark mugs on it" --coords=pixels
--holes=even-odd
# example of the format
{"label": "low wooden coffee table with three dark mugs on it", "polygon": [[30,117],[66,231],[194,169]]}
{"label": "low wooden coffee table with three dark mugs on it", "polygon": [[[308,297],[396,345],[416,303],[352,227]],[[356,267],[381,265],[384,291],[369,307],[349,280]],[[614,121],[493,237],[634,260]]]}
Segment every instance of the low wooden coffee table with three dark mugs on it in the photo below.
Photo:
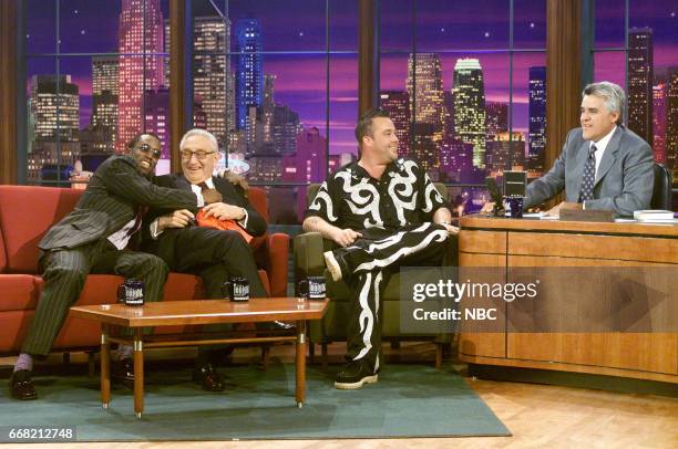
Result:
{"label": "low wooden coffee table with three dark mugs on it", "polygon": [[[134,347],[134,411],[142,417],[144,408],[144,348],[199,346],[228,343],[273,343],[296,341],[296,393],[297,406],[306,398],[306,320],[320,320],[327,311],[329,300],[308,301],[298,297],[250,299],[248,302],[228,300],[163,301],[143,306],[123,304],[82,305],[71,307],[71,316],[101,322],[101,401],[109,408],[111,401],[111,353],[110,342],[130,344]],[[224,337],[214,334],[143,335],[143,327],[295,321],[296,335],[290,333],[266,334],[266,336]],[[112,336],[112,327],[129,327],[133,336]],[[254,332],[254,331],[253,331]],[[260,334],[259,331],[256,332]],[[251,333],[249,333],[251,334]]]}

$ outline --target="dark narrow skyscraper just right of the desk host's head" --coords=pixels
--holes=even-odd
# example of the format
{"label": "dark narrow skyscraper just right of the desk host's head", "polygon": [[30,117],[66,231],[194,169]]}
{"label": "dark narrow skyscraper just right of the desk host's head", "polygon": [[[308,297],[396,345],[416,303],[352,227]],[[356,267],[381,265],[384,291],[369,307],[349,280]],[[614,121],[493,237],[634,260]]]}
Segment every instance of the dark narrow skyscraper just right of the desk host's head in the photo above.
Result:
{"label": "dark narrow skyscraper just right of the desk host's head", "polygon": [[628,127],[653,142],[653,31],[648,28],[628,32]]}

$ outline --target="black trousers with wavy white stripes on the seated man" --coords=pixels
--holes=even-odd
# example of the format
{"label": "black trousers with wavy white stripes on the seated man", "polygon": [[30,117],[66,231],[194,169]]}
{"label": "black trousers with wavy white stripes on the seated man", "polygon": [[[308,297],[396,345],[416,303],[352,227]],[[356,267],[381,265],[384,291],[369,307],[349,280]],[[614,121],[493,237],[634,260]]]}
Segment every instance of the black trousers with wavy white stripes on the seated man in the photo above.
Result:
{"label": "black trousers with wavy white stripes on the seated man", "polygon": [[374,373],[379,369],[381,347],[381,301],[390,276],[400,267],[440,265],[448,231],[430,222],[401,231],[367,229],[362,238],[343,253],[351,274],[351,313],[347,328],[349,361],[363,361]]}

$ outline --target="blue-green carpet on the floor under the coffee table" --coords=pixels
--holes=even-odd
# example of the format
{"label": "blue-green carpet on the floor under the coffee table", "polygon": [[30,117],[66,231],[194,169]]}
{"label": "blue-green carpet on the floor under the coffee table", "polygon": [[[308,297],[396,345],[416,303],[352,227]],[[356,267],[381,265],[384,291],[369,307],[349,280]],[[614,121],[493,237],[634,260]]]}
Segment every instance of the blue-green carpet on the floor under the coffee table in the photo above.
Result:
{"label": "blue-green carpet on the floor under the coffee table", "polygon": [[194,385],[188,368],[147,370],[144,416],[132,391],[113,388],[111,408],[99,399],[99,378],[38,376],[40,399],[0,394],[2,426],[75,426],[78,440],[230,440],[404,438],[511,435],[462,377],[445,367],[387,365],[379,383],[337,390],[332,375],[307,370],[307,400],[295,405],[292,364],[229,366],[222,394]]}

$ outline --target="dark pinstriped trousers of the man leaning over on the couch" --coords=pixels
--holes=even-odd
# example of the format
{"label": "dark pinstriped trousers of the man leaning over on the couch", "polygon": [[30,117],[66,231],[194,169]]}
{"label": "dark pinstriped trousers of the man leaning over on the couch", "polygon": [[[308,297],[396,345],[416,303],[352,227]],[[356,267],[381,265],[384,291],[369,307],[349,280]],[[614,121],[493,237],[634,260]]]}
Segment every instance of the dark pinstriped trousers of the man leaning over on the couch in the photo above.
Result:
{"label": "dark pinstriped trousers of the man leaning over on the couch", "polygon": [[[21,347],[22,353],[45,356],[69,313],[80,297],[86,276],[119,274],[144,282],[144,301],[161,301],[170,270],[162,259],[143,252],[117,250],[106,239],[78,248],[45,251],[43,268],[44,291]],[[114,293],[109,299],[115,302]]]}

